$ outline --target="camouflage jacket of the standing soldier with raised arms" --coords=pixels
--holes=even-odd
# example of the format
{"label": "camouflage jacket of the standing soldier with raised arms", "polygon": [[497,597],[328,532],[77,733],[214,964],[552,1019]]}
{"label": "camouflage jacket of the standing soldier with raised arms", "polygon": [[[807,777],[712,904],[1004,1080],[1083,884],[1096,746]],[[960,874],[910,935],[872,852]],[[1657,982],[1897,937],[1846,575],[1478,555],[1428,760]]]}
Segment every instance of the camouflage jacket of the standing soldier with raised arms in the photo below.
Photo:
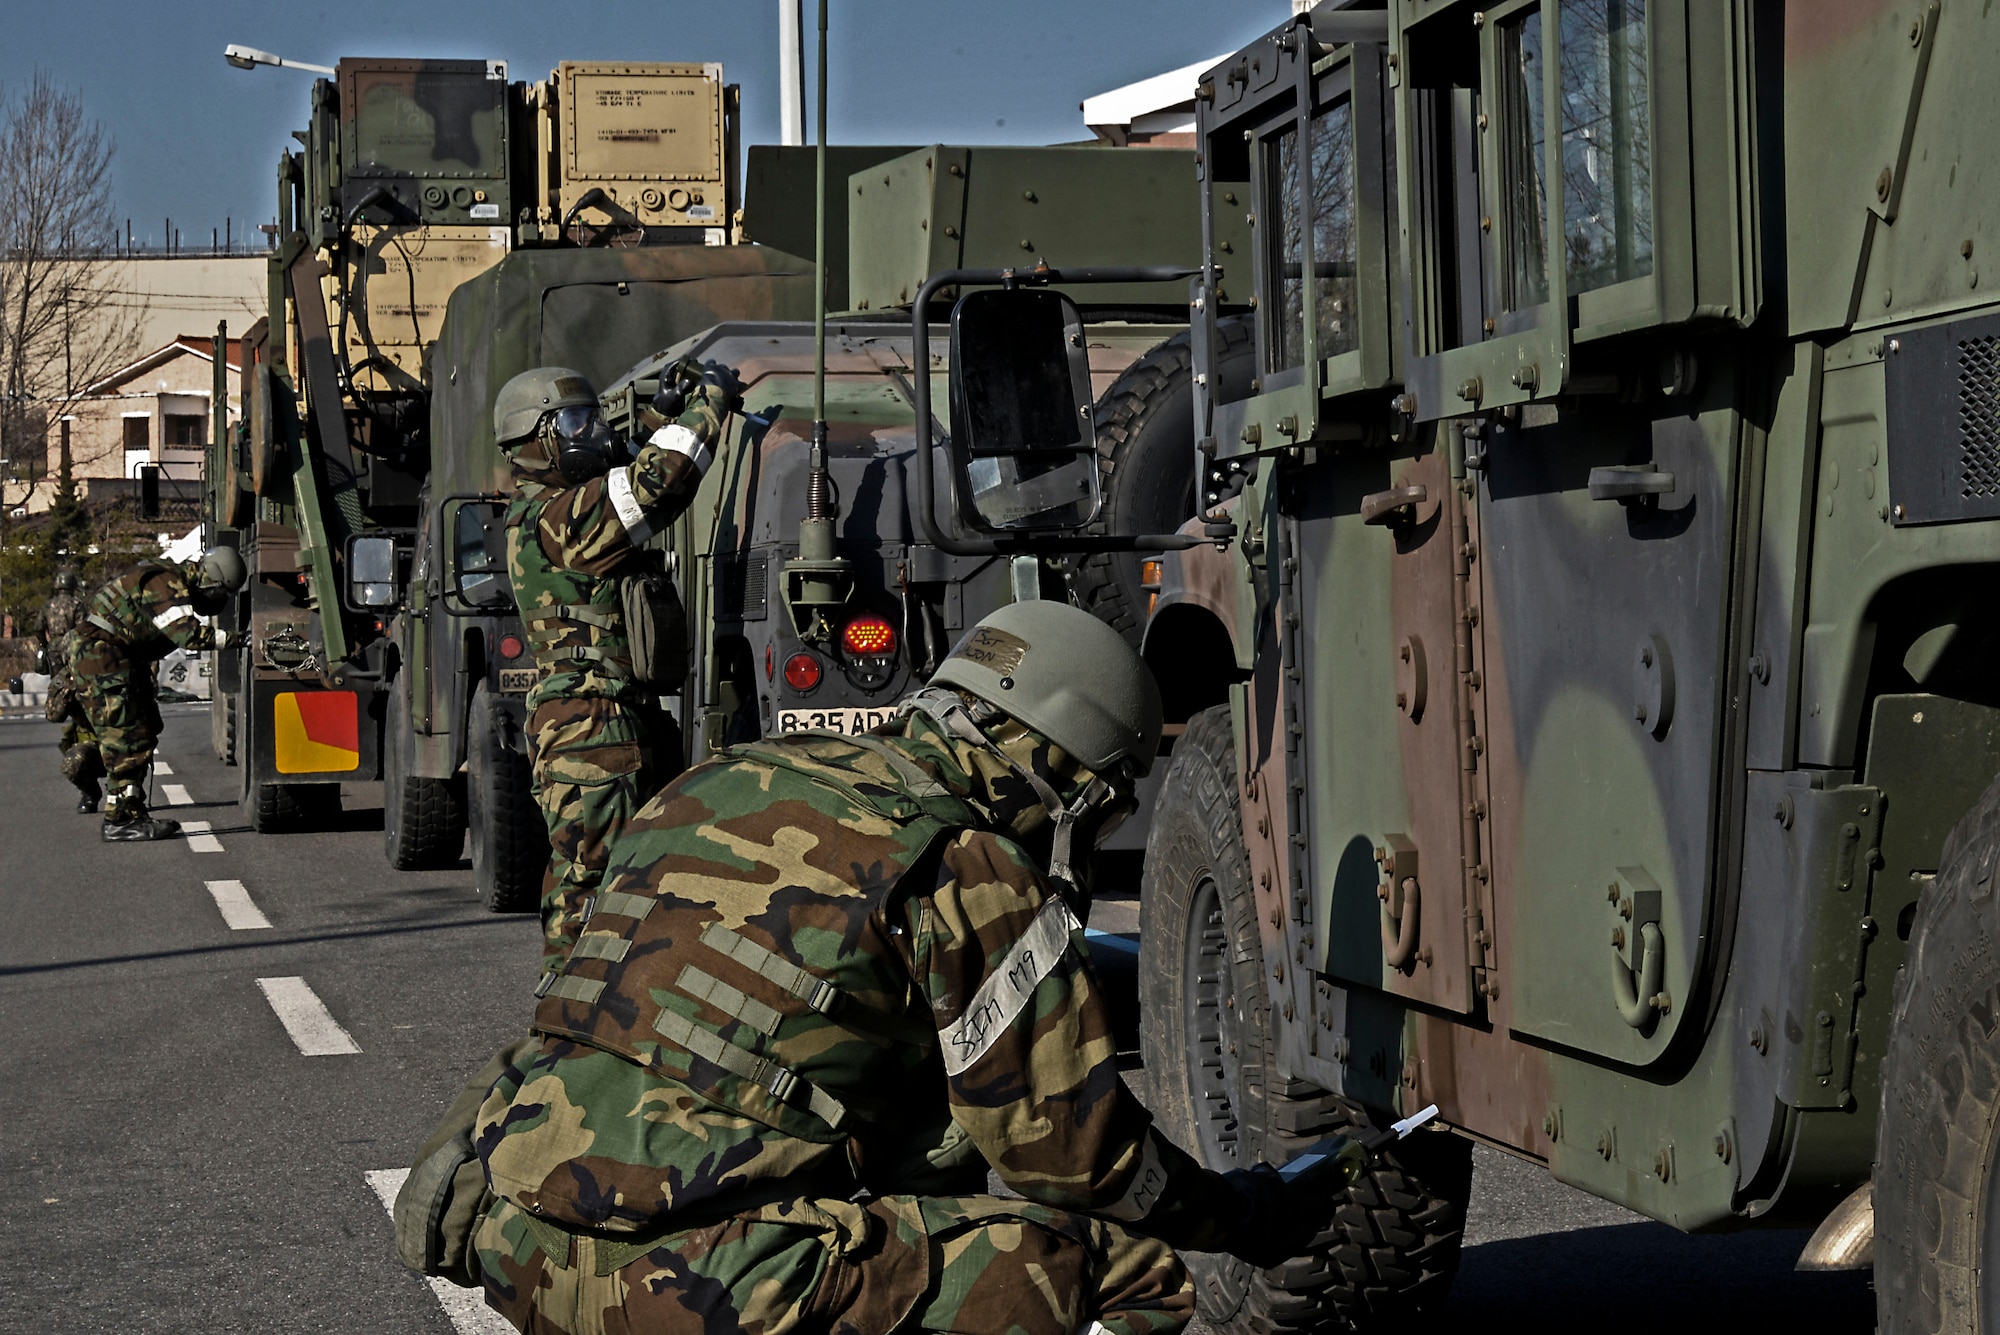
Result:
{"label": "camouflage jacket of the standing soldier with raised arms", "polygon": [[618,578],[650,570],[642,548],[694,500],[702,464],[658,442],[576,488],[532,474],[506,512],[508,578],[540,677],[528,707],[572,695],[636,697]]}

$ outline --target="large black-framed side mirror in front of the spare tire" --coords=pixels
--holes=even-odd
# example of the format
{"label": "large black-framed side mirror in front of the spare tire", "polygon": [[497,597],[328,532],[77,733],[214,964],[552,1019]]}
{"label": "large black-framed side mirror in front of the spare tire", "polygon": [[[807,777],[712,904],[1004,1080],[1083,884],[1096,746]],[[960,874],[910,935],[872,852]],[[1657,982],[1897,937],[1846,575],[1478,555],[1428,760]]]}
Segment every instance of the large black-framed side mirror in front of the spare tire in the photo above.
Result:
{"label": "large black-framed side mirror in front of the spare tire", "polygon": [[1090,348],[1076,304],[986,288],[952,308],[952,482],[984,532],[1074,530],[1098,518]]}

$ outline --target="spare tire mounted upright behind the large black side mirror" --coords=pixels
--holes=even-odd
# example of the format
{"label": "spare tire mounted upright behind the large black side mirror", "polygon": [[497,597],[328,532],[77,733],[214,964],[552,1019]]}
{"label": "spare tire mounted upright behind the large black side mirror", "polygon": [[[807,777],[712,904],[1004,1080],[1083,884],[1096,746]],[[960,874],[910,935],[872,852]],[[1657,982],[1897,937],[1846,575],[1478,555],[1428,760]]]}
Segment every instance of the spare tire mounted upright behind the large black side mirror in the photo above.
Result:
{"label": "spare tire mounted upright behind the large black side mirror", "polygon": [[[1224,382],[1250,376],[1250,326],[1216,326]],[[1166,340],[1124,370],[1094,410],[1104,514],[1094,532],[1172,534],[1194,518],[1194,354]],[[1076,566],[1076,606],[1138,648],[1150,596],[1140,552],[1096,552]]]}

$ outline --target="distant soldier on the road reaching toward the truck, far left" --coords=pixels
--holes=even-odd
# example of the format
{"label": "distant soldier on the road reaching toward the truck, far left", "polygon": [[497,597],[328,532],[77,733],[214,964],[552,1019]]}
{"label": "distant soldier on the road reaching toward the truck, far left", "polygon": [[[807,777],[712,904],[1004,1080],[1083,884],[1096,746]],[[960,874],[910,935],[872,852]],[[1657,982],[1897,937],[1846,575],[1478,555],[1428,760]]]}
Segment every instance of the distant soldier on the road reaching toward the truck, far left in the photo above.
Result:
{"label": "distant soldier on the road reaching toward the truck, far left", "polygon": [[240,590],[244,562],[216,548],[198,562],[140,562],[90,600],[72,634],[76,697],[104,757],[104,839],[166,839],[180,823],[146,813],[146,771],[160,739],[154,666],[174,650],[210,650],[204,618]]}

